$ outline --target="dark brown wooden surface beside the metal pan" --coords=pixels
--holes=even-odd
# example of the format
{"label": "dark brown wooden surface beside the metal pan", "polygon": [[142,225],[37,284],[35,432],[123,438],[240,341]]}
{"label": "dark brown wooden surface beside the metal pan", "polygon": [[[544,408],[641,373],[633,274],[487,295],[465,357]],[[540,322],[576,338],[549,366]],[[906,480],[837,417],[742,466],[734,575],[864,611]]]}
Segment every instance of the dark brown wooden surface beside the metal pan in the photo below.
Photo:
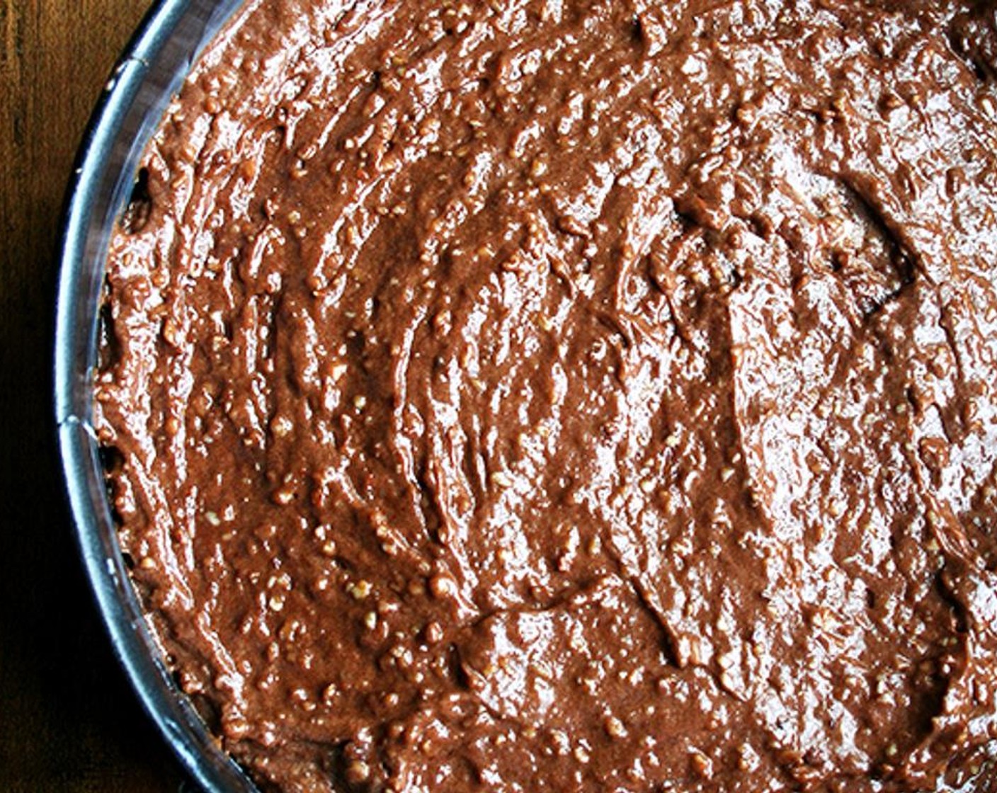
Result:
{"label": "dark brown wooden surface beside the metal pan", "polygon": [[0,0],[0,791],[176,793],[112,655],[63,501],[51,400],[59,219],[149,0]]}

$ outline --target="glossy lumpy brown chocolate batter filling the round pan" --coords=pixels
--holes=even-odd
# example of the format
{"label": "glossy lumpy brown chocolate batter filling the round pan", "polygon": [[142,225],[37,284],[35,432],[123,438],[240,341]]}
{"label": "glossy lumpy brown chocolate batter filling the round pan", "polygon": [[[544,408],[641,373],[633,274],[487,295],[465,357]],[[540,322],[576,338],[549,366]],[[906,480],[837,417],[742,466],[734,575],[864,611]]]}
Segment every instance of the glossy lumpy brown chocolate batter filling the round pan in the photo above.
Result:
{"label": "glossy lumpy brown chocolate batter filling the round pan", "polygon": [[96,424],[267,790],[997,790],[990,2],[251,0]]}

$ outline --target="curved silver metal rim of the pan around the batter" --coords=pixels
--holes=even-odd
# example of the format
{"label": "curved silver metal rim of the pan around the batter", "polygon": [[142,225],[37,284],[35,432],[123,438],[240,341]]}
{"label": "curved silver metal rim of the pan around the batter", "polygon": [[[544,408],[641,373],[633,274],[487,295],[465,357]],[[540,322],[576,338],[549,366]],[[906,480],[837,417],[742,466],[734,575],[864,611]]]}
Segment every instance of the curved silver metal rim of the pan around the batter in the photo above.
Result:
{"label": "curved silver metal rim of the pan around the batter", "polygon": [[84,139],[63,227],[55,337],[55,411],[83,562],[115,652],[149,715],[208,791],[256,788],[179,690],[151,635],[118,543],[91,423],[105,258],[138,161],[170,98],[239,0],[154,6],[112,75]]}

